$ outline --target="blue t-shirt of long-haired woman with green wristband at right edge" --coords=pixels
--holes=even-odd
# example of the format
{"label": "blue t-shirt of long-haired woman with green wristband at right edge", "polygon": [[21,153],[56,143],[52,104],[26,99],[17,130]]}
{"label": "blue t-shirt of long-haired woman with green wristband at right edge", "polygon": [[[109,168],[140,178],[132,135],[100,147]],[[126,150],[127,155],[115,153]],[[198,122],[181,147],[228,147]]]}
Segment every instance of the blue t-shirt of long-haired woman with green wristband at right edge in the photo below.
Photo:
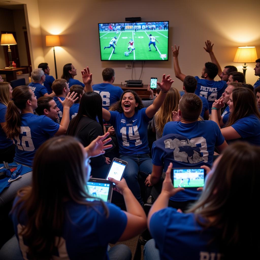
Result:
{"label": "blue t-shirt of long-haired woman with green wristband at right edge", "polygon": [[[223,123],[225,124],[228,122],[229,115],[223,116]],[[260,120],[255,115],[246,116],[244,118],[241,118],[237,120],[232,127],[238,132],[239,135],[241,135],[241,138],[239,139],[233,139],[234,140],[241,140],[241,141],[247,141],[252,145],[260,145]]]}

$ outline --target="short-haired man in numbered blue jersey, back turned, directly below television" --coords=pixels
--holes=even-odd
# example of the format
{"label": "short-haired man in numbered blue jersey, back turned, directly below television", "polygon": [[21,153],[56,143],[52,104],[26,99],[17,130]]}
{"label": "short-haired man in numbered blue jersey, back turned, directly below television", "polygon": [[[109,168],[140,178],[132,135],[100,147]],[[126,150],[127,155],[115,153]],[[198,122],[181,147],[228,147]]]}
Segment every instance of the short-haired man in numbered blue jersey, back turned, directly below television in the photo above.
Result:
{"label": "short-haired man in numbered blue jersey, back turned, directly below television", "polygon": [[[115,80],[115,71],[112,68],[105,68],[102,71],[103,83],[92,86],[96,93],[102,97],[102,107],[107,109],[115,102],[119,101],[123,90],[120,87],[113,86]],[[85,90],[86,91],[86,90]]]}

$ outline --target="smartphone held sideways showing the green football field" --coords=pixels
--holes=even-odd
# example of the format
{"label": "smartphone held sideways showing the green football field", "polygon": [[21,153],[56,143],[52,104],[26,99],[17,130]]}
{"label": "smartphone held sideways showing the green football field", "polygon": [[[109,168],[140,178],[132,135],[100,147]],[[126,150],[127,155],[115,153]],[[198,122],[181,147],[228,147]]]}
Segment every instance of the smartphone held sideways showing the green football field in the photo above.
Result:
{"label": "smartphone held sideways showing the green football field", "polygon": [[202,168],[174,168],[172,182],[174,188],[204,187],[206,171]]}

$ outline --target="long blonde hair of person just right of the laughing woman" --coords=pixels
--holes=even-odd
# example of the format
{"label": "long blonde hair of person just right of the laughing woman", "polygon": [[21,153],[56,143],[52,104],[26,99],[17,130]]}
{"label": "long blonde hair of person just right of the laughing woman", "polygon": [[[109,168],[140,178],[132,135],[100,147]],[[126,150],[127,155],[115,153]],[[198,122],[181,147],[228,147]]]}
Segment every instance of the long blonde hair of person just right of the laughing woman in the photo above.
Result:
{"label": "long blonde hair of person just right of the laughing woman", "polygon": [[176,88],[170,88],[160,109],[155,114],[155,128],[159,134],[162,134],[165,124],[172,121],[172,111],[178,111],[179,102],[179,91]]}

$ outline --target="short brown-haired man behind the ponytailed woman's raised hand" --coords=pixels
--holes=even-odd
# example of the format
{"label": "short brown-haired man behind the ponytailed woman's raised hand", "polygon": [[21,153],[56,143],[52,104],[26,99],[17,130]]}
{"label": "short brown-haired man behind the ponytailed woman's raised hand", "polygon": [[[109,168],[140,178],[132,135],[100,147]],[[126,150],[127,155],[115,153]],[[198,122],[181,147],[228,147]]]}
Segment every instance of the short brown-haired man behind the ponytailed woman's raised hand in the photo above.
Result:
{"label": "short brown-haired man behind the ponytailed woman's raised hand", "polygon": [[61,99],[61,101],[63,101],[66,98],[66,96],[69,93],[69,84],[65,79],[56,79],[52,83],[52,89],[56,94],[56,97],[54,97],[54,101],[56,102],[57,107],[60,109],[58,119],[57,119],[57,122],[60,124],[62,119],[62,114],[63,114],[63,106],[59,101],[58,97]]}

